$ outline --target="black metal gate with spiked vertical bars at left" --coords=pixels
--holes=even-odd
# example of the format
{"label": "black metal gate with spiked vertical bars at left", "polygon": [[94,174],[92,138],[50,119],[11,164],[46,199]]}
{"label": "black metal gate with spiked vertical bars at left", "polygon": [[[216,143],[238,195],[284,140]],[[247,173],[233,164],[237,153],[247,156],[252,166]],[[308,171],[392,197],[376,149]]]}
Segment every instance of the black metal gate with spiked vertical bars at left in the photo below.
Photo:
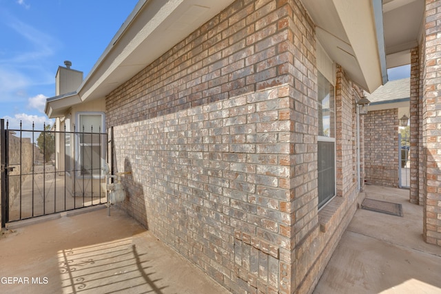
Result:
{"label": "black metal gate with spiked vertical bars at left", "polygon": [[1,119],[1,226],[107,203],[101,129],[9,129]]}

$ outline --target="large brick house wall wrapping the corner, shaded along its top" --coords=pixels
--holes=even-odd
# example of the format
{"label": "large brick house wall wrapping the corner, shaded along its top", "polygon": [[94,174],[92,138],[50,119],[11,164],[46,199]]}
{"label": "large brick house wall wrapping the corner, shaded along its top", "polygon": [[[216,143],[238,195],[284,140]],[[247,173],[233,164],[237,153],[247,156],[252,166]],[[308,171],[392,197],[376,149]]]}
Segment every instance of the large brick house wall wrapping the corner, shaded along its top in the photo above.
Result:
{"label": "large brick house wall wrapping the corner, shaded along its top", "polygon": [[238,0],[106,98],[123,209],[233,293],[311,292],[355,211],[319,220],[315,46],[300,1]]}

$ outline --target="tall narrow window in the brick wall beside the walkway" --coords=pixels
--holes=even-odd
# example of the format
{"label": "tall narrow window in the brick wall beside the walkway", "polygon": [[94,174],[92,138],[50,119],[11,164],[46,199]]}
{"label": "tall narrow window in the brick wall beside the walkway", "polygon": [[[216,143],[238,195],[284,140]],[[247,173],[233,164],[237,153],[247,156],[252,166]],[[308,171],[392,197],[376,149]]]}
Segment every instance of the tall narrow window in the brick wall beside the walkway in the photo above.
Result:
{"label": "tall narrow window in the brick wall beside the walkway", "polygon": [[334,86],[318,72],[318,208],[336,195]]}

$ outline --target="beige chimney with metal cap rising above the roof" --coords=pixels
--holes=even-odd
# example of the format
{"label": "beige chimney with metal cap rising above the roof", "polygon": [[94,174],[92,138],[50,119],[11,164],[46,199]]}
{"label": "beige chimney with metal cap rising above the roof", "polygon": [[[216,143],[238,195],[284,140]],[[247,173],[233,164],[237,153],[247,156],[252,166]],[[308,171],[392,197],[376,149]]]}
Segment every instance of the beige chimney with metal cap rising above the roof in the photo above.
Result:
{"label": "beige chimney with metal cap rising above the roof", "polygon": [[75,92],[83,82],[83,72],[70,68],[71,61],[64,61],[64,65],[58,67],[55,76],[55,96]]}

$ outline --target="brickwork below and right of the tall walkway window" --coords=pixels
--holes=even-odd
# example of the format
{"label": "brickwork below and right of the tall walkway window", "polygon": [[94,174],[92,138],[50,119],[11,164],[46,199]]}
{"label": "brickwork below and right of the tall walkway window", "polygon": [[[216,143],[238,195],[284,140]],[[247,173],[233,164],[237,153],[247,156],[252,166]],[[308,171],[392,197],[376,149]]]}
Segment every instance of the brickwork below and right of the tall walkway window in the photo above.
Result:
{"label": "brickwork below and right of the tall walkway window", "polygon": [[[342,233],[351,221],[357,204],[364,198],[363,193],[356,191],[357,183],[353,180],[352,172],[356,168],[356,152],[352,149],[353,142],[356,141],[356,132],[352,129],[353,120],[356,119],[353,91],[357,91],[356,87],[353,87],[342,67],[337,66],[336,158],[340,160],[340,163],[337,163],[340,174],[336,176],[336,181],[342,194],[337,192],[338,196],[320,211],[317,211],[316,206],[309,208],[308,214],[314,220],[314,226],[309,227],[309,232],[296,240],[296,260],[293,265],[296,269],[296,293],[311,293],[314,290]],[[357,94],[360,95],[359,92]],[[302,222],[297,220],[295,225],[297,227],[301,224]]]}

